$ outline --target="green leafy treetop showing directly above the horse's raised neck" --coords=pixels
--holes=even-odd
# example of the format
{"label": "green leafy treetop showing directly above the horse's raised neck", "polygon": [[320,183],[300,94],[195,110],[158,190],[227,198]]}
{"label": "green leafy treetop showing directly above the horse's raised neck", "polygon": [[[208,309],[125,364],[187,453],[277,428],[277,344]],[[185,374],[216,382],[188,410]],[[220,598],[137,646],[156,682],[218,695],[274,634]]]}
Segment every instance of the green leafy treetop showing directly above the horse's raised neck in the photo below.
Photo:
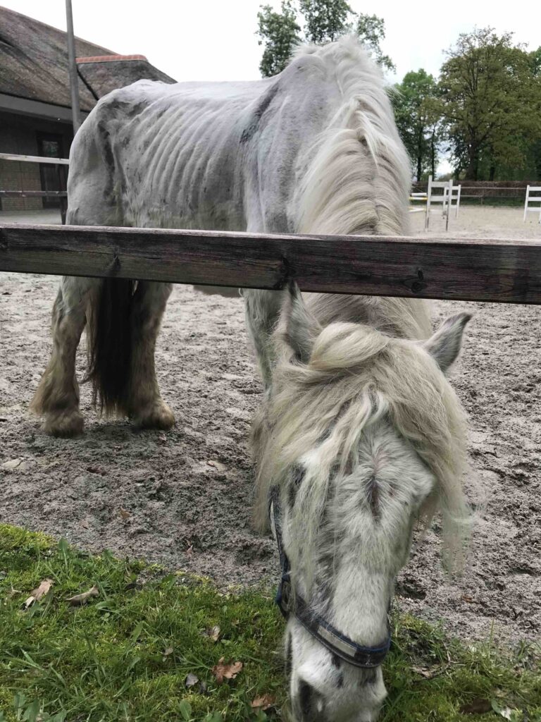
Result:
{"label": "green leafy treetop showing directly above the horse's raised neck", "polygon": [[[302,19],[302,32],[297,17]],[[259,44],[265,46],[261,74],[268,77],[283,70],[299,41],[322,45],[346,32],[356,32],[380,65],[394,69],[380,48],[385,37],[383,19],[356,14],[346,0],[282,0],[281,12],[270,5],[261,6],[257,31]]]}

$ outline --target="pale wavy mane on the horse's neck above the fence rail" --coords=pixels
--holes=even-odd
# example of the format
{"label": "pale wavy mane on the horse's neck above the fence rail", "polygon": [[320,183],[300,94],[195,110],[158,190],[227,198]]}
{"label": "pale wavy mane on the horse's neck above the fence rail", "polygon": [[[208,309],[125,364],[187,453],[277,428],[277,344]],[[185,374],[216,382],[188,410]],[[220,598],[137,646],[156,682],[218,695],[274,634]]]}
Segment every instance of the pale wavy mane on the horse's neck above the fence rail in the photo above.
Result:
{"label": "pale wavy mane on the horse's neck above the fence rail", "polygon": [[310,151],[296,198],[299,233],[379,235],[408,229],[410,160],[382,73],[353,36],[302,45],[343,103]]}

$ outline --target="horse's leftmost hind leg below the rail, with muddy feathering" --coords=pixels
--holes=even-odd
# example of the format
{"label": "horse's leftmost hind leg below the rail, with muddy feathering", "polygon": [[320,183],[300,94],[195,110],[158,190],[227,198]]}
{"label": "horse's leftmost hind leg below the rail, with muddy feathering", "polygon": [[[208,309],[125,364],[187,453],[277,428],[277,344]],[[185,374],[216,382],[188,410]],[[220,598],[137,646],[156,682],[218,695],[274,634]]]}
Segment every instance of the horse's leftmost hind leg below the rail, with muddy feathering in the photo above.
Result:
{"label": "horse's leftmost hind leg below the rail, with muddy feathering", "polygon": [[53,352],[30,404],[45,417],[43,430],[53,436],[76,436],[83,430],[75,356],[89,296],[99,284],[97,279],[63,277],[53,305]]}

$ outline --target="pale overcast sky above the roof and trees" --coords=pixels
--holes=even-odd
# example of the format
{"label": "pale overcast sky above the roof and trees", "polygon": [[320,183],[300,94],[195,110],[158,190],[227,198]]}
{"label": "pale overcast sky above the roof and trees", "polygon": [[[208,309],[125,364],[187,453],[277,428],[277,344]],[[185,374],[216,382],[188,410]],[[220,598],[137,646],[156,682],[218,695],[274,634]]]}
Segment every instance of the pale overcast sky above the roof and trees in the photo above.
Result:
{"label": "pale overcast sky above the roof and trees", "polygon": [[[0,0],[17,12],[66,30],[64,0]],[[122,54],[140,53],[177,80],[250,80],[259,77],[255,36],[260,0],[72,0],[75,34]],[[271,2],[275,6],[277,2]],[[443,52],[477,25],[514,32],[516,42],[541,45],[541,5],[350,0],[357,12],[385,21],[383,51],[400,80],[409,70],[437,74]]]}

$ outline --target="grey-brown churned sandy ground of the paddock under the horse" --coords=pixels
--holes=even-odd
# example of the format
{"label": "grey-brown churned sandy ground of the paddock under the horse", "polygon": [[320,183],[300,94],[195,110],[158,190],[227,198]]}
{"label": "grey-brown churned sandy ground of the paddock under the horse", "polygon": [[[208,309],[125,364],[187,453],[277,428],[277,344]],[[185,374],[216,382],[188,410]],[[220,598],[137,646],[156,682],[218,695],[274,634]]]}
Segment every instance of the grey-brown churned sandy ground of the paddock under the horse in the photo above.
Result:
{"label": "grey-brown churned sandy ground of the paddock under the horse", "polygon": [[[0,222],[14,219],[0,214]],[[423,215],[412,220],[420,231]],[[442,228],[434,215],[431,232]],[[540,227],[532,214],[523,224],[520,209],[463,207],[449,235],[532,238]],[[174,430],[141,433],[99,419],[83,387],[86,433],[59,440],[27,415],[50,353],[57,282],[0,273],[0,521],[65,536],[94,552],[107,547],[188,568],[223,586],[276,580],[273,541],[250,529],[247,438],[261,387],[241,300],[175,287],[157,350]],[[478,522],[469,568],[459,583],[445,578],[436,524],[400,577],[397,603],[442,619],[463,638],[486,639],[493,626],[502,639],[539,640],[541,310],[438,302],[435,321],[459,310],[474,314],[452,373],[471,423],[467,488]],[[16,459],[12,471],[2,468]]]}

